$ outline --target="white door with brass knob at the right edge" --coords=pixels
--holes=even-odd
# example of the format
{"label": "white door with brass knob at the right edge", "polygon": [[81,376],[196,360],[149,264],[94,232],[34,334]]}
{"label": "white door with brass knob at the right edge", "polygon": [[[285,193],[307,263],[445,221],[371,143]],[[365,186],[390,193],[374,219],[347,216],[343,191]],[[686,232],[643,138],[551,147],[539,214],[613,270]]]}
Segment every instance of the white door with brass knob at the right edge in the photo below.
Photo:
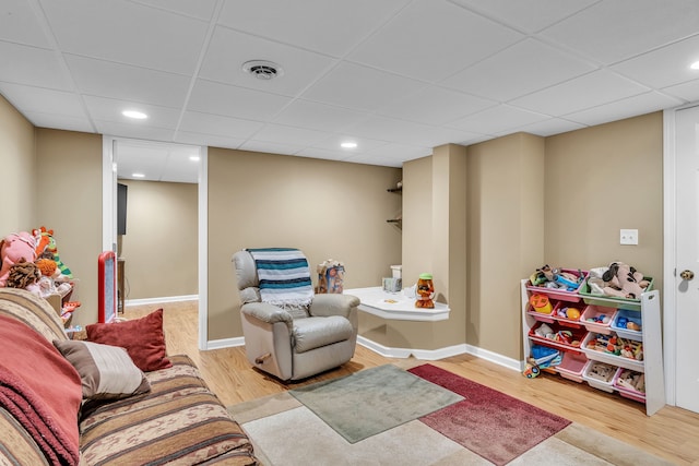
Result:
{"label": "white door with brass knob at the right edge", "polygon": [[[676,113],[675,169],[675,294],[676,330],[675,402],[699,413],[699,107]],[[672,344],[672,342],[668,342]]]}

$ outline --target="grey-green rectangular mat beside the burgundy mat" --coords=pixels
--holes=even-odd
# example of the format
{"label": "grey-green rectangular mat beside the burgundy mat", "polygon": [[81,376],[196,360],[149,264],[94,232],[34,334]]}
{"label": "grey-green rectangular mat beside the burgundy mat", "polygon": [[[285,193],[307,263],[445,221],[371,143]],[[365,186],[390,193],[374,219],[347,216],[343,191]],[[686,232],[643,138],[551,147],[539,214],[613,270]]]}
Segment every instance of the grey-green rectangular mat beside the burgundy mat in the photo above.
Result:
{"label": "grey-green rectangular mat beside the burgundy mat", "polygon": [[350,443],[463,399],[461,395],[392,365],[366,369],[289,393]]}

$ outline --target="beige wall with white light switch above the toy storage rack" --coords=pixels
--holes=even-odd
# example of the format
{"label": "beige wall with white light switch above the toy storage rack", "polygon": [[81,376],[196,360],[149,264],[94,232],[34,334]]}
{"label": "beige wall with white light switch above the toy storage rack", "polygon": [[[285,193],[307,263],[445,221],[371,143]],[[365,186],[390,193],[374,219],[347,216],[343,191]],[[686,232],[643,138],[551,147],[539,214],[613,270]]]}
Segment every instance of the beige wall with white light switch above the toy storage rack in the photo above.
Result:
{"label": "beige wall with white light switch above the toy storage rack", "polygon": [[[663,273],[663,116],[653,112],[546,139],[545,256],[550,265],[623,261]],[[619,229],[639,230],[620,246]]]}

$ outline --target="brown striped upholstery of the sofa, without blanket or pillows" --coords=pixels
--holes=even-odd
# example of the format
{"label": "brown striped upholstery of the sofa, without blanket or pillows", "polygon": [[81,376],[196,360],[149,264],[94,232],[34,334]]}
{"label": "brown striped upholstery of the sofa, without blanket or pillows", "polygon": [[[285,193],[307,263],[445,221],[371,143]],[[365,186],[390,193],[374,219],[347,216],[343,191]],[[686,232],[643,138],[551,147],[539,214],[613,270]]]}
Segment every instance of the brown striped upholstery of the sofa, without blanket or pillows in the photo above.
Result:
{"label": "brown striped upholstery of the sofa, without blanket or pillows", "polygon": [[[66,339],[54,309],[23,290],[0,288],[0,315],[48,340]],[[187,356],[147,372],[151,392],[108,404],[83,405],[81,465],[258,465],[240,426],[206,386]],[[48,465],[36,442],[0,407],[0,464]]]}

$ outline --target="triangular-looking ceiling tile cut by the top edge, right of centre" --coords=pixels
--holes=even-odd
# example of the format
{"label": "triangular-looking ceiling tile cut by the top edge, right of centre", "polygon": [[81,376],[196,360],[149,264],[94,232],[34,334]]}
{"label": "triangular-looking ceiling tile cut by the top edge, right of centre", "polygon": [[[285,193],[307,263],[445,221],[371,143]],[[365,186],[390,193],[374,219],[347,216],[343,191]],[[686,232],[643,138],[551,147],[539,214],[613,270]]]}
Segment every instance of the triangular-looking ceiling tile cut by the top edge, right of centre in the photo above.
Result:
{"label": "triangular-looking ceiling tile cut by the top edge, right of centre", "polygon": [[452,0],[489,17],[535,33],[599,0]]}

